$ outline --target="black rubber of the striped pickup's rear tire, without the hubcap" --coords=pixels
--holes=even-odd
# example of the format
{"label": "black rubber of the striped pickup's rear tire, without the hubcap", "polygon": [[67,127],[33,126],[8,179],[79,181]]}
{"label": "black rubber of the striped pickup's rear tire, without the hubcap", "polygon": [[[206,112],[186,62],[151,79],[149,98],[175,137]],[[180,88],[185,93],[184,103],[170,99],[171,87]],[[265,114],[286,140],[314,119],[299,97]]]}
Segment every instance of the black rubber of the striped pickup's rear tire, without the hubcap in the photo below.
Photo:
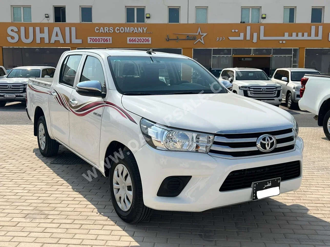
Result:
{"label": "black rubber of the striped pickup's rear tire, without the hubcap", "polygon": [[[42,149],[42,146],[40,144],[40,139],[39,139],[39,127],[40,127],[41,124],[43,125],[44,130],[45,130],[45,134],[44,134],[44,136],[45,136],[45,147],[44,147],[44,149]],[[47,129],[47,125],[46,125],[45,116],[41,116],[38,120],[37,140],[38,140],[38,146],[39,146],[40,153],[43,156],[50,157],[50,156],[55,156],[57,154],[59,144],[58,144],[58,142],[56,142],[55,140],[50,138],[50,136],[48,134],[48,129]]]}

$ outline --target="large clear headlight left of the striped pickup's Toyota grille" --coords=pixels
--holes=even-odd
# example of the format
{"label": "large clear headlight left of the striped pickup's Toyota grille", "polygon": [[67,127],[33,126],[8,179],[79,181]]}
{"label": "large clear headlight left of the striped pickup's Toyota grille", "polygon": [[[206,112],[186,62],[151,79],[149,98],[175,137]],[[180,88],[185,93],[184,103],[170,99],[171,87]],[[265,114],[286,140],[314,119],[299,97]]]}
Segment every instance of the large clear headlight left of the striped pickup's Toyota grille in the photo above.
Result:
{"label": "large clear headlight left of the striped pickup's Toyota grille", "polygon": [[147,143],[160,150],[207,153],[214,139],[213,135],[171,129],[146,119],[141,120],[140,126]]}

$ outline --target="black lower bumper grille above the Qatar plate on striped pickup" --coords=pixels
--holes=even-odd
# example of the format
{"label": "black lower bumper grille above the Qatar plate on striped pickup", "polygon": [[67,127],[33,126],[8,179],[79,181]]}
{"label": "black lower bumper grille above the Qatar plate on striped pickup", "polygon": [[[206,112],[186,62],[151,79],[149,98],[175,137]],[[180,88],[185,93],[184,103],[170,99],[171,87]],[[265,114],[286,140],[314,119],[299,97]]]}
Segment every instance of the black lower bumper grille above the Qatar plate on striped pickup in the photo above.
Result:
{"label": "black lower bumper grille above the Qatar plate on striped pickup", "polygon": [[219,191],[249,188],[252,182],[281,178],[281,181],[298,178],[301,174],[300,161],[236,170],[229,173]]}

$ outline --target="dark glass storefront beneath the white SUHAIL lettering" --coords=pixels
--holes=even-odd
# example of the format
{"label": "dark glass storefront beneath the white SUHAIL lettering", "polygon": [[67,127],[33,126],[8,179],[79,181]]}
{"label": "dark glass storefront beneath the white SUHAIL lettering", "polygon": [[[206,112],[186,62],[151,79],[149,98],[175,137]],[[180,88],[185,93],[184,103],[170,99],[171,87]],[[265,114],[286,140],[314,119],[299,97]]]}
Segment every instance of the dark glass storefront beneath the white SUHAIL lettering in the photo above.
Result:
{"label": "dark glass storefront beneath the white SUHAIL lettering", "polygon": [[65,51],[70,48],[37,48],[37,47],[3,47],[4,67],[15,68],[18,66],[53,66]]}

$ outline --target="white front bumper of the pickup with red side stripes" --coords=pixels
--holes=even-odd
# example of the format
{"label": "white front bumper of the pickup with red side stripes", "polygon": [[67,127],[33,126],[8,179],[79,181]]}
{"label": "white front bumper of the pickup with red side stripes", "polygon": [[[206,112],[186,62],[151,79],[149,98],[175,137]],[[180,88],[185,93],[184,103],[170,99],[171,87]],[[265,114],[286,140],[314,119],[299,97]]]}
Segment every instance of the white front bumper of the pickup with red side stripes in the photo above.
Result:
{"label": "white front bumper of the pickup with red side stripes", "polygon": [[[263,157],[225,159],[204,153],[161,151],[144,145],[134,153],[139,166],[144,204],[157,210],[201,212],[207,209],[239,204],[252,200],[252,187],[220,192],[231,171],[280,164],[299,160],[301,175],[281,182],[280,193],[297,190],[302,179],[303,140],[298,137],[296,149]],[[159,197],[162,181],[170,176],[192,176],[176,197]]]}

